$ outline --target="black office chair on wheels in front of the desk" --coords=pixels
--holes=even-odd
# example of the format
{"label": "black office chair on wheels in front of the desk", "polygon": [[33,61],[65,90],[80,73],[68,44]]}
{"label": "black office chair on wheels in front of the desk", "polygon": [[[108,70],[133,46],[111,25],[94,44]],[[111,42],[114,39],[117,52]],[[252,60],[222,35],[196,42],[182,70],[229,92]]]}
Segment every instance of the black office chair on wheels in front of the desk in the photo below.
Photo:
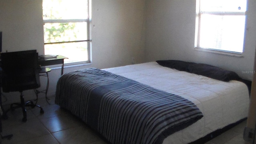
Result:
{"label": "black office chair on wheels in front of the desk", "polygon": [[[44,110],[35,105],[32,101],[25,103],[22,92],[40,87],[38,53],[36,50],[26,50],[19,52],[6,52],[1,54],[2,60],[2,90],[3,92],[20,92],[20,103],[13,103],[10,109],[6,110],[3,118],[7,119],[6,113],[9,110],[22,108],[22,121],[27,121],[26,106],[40,108],[40,113]],[[14,106],[16,105],[16,106]]]}

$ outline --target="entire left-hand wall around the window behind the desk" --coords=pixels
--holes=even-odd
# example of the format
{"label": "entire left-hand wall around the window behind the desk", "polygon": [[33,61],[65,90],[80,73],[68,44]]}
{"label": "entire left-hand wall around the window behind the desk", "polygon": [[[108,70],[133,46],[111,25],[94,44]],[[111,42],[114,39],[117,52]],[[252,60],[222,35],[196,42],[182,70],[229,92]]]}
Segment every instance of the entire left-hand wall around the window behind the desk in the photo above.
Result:
{"label": "entire left-hand wall around the window behind the desk", "polygon": [[[64,73],[82,68],[110,68],[144,62],[144,0],[92,0],[92,64],[65,67]],[[3,51],[36,49],[44,54],[42,0],[0,0],[0,31]],[[55,94],[60,69],[49,72],[49,96]],[[41,89],[46,79],[40,78]],[[4,93],[19,101],[18,93]],[[35,98],[32,90],[26,100]],[[40,96],[43,96],[40,94]]]}

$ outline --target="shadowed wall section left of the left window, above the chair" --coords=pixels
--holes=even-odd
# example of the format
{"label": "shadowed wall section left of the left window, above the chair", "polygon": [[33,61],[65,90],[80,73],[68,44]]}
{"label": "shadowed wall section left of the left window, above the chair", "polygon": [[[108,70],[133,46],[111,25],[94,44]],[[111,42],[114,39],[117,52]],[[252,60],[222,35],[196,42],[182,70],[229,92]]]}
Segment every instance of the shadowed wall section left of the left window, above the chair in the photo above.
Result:
{"label": "shadowed wall section left of the left window, above the chair", "polygon": [[44,52],[41,0],[0,0],[2,52]]}

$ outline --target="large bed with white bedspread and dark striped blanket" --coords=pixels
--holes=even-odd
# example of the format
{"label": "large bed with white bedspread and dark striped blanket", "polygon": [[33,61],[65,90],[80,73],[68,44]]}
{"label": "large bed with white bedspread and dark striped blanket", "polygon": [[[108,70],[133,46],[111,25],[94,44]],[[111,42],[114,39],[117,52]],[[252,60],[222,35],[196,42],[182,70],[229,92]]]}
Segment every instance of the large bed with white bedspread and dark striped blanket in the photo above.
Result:
{"label": "large bed with white bedspread and dark striped blanket", "polygon": [[[89,68],[69,72],[58,80],[55,103],[81,118],[113,144],[188,144],[247,117],[248,86],[237,80],[236,74],[234,76],[233,73],[231,75],[228,73],[228,79],[225,76],[223,80],[216,80],[222,77],[217,76],[214,79],[211,76],[202,76],[204,74],[199,75],[198,67],[192,70],[194,65],[191,64],[194,63],[180,64],[180,61],[174,61],[178,62],[178,67],[175,67],[177,63],[170,67],[165,65],[166,61],[164,62],[164,64],[148,62],[103,70]],[[110,77],[102,80],[92,76],[95,73]],[[113,77],[125,82],[113,84]],[[98,86],[99,82],[103,84]],[[130,83],[141,86],[135,90],[130,87]],[[127,84],[128,86],[124,88],[123,86]],[[106,86],[110,86],[108,90]],[[124,90],[128,91],[128,94],[124,93],[120,98],[115,97],[119,96],[117,92],[122,93]],[[148,102],[148,99],[143,101],[148,91],[150,93],[153,91],[157,95],[151,98],[158,102],[156,108],[144,107]],[[136,100],[141,93],[144,95]],[[167,99],[159,98],[158,94]],[[174,113],[168,113],[171,116],[173,114],[178,116],[168,118],[166,117],[168,110],[158,108],[161,104],[166,106],[166,102],[172,101],[173,99],[170,99],[172,96],[181,103],[175,102],[172,105],[174,107],[171,107]],[[130,97],[134,97],[135,100]],[[143,99],[142,103],[139,103],[141,99]],[[132,105],[131,102],[137,105]],[[152,105],[152,102],[149,104]],[[177,107],[178,105],[184,108]],[[169,108],[169,105],[166,107]],[[179,110],[181,112],[177,114]],[[188,114],[188,111],[194,113]],[[152,115],[148,116],[149,114]],[[156,119],[153,121],[153,118]],[[181,122],[173,122],[173,119],[180,119]]]}

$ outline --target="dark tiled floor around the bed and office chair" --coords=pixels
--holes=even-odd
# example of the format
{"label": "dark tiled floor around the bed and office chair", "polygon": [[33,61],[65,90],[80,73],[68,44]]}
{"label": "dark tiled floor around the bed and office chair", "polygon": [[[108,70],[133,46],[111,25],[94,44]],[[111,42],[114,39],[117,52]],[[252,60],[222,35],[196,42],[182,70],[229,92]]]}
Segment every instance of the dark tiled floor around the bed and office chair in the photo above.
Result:
{"label": "dark tiled floor around the bed and office chair", "polygon": [[[2,144],[107,144],[84,122],[54,104],[54,98],[50,103],[39,99],[44,114],[40,114],[39,108],[29,109],[27,122],[21,121],[21,109],[8,112],[8,120],[2,120],[2,135],[14,136],[11,140],[2,140]],[[245,125],[246,121],[206,144],[245,144],[242,138]]]}

